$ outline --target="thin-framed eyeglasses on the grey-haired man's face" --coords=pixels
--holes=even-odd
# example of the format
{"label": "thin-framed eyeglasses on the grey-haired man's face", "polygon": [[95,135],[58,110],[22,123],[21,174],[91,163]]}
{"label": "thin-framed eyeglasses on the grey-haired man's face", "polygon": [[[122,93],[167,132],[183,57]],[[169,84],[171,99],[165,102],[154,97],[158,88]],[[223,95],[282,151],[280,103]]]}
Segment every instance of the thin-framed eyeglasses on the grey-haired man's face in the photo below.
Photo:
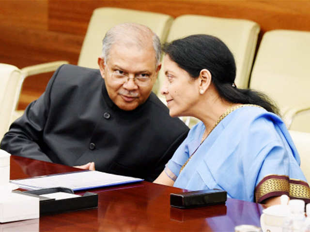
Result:
{"label": "thin-framed eyeglasses on the grey-haired man's face", "polygon": [[125,73],[121,70],[110,71],[107,66],[109,75],[113,78],[113,81],[118,84],[124,84],[126,81],[129,81],[130,78],[134,80],[138,86],[147,86],[151,83],[152,76],[148,73],[138,73],[134,77],[130,77],[129,73]]}

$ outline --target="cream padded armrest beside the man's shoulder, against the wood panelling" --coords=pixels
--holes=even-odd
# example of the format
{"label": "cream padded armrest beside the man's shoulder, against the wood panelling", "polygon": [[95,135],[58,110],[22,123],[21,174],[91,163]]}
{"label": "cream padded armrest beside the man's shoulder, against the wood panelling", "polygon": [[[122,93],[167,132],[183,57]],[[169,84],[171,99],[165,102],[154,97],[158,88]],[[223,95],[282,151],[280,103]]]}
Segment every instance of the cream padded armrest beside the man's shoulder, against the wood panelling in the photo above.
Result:
{"label": "cream padded armrest beside the man's shoulder, against the wood panelling", "polygon": [[32,65],[21,69],[21,73],[24,77],[39,73],[48,73],[55,71],[62,64],[68,64],[68,63],[69,63],[68,61],[60,60],[60,61],[53,61],[43,64]]}

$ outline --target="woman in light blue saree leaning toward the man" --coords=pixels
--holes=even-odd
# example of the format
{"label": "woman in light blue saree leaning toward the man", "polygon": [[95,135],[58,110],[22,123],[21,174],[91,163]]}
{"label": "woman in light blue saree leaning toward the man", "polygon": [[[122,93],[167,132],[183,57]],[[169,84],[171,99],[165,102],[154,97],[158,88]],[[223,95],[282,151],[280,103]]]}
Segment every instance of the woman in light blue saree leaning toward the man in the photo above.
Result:
{"label": "woman in light blue saree leaning toward the man", "polygon": [[155,183],[228,197],[279,203],[310,200],[293,141],[277,108],[262,93],[234,84],[232,53],[218,38],[191,35],[164,46],[161,89],[171,116],[193,116],[194,126]]}

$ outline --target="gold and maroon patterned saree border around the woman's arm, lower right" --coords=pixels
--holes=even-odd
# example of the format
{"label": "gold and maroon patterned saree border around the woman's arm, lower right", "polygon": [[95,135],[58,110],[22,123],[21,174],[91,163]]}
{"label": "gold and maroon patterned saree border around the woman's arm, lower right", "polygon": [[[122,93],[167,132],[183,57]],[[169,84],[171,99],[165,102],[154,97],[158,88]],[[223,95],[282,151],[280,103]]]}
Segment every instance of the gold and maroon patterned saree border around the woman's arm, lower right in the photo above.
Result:
{"label": "gold and maroon patterned saree border around the woman's arm, lower right", "polygon": [[255,201],[257,203],[263,200],[288,195],[291,199],[302,199],[310,203],[310,188],[307,182],[297,179],[290,179],[287,175],[267,175],[255,188]]}

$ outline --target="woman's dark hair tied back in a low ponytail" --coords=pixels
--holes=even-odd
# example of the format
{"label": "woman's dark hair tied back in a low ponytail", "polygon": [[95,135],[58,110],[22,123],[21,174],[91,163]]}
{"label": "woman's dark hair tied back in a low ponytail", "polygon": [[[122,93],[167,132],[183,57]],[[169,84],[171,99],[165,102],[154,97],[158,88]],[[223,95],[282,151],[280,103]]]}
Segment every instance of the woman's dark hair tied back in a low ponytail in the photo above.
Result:
{"label": "woman's dark hair tied back in a low ponytail", "polygon": [[212,75],[219,95],[229,102],[256,104],[279,115],[277,106],[263,93],[236,88],[236,65],[229,48],[211,35],[190,35],[163,45],[163,52],[191,77],[197,78],[202,69]]}

